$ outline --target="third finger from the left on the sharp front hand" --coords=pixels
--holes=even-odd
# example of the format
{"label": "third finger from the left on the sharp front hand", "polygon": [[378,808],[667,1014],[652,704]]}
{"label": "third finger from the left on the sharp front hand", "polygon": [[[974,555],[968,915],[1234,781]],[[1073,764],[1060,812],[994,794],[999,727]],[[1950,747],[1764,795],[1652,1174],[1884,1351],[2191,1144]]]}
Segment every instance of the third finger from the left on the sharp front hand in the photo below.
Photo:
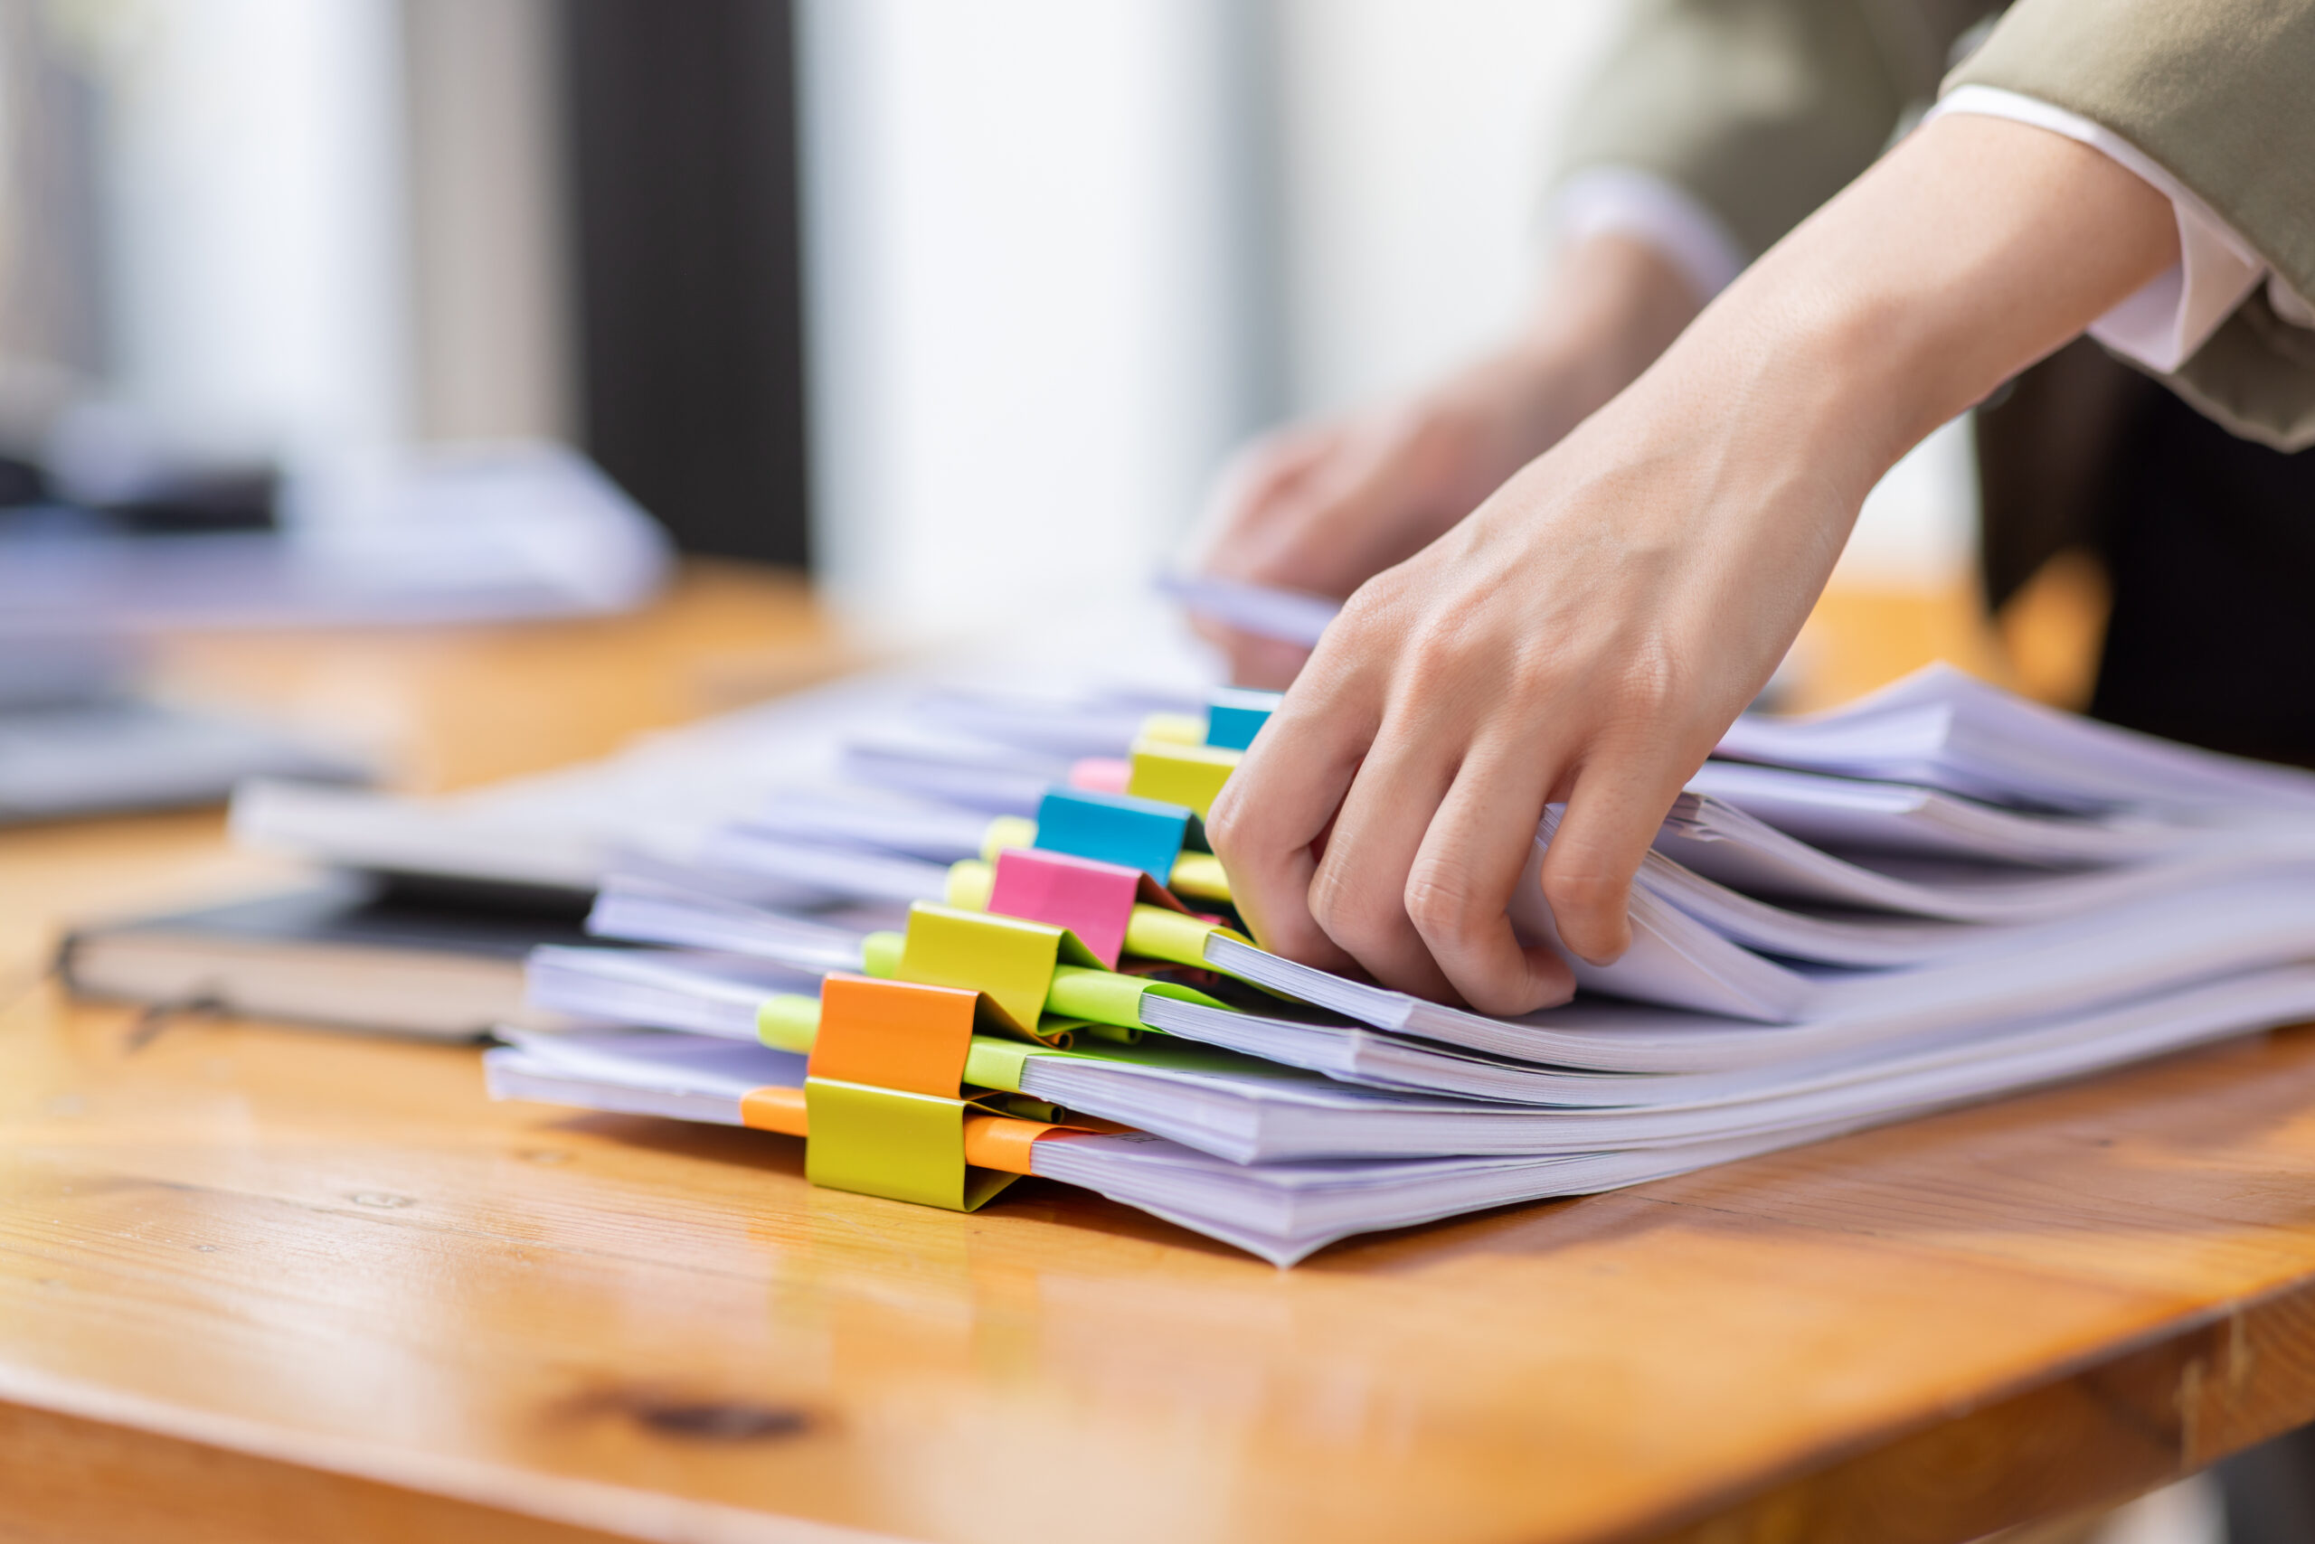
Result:
{"label": "third finger from the left on the sharp front hand", "polygon": [[1482,1014],[1533,1014],[1577,988],[1567,961],[1546,947],[1523,947],[1509,917],[1556,775],[1537,750],[1502,745],[1465,759],[1405,882],[1408,921],[1438,970]]}

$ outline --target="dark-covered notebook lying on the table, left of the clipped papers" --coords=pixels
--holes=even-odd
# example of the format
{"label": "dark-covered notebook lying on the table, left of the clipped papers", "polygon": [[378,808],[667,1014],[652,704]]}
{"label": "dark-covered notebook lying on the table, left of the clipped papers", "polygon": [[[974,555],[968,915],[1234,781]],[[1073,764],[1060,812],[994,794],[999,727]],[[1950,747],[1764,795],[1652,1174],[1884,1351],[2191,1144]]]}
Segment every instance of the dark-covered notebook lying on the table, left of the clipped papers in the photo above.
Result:
{"label": "dark-covered notebook lying on the table, left of the clipped papers", "polygon": [[475,1039],[523,1009],[523,956],[595,942],[574,910],[398,889],[368,875],[134,917],[65,938],[58,968],[81,995],[183,1005],[433,1039]]}

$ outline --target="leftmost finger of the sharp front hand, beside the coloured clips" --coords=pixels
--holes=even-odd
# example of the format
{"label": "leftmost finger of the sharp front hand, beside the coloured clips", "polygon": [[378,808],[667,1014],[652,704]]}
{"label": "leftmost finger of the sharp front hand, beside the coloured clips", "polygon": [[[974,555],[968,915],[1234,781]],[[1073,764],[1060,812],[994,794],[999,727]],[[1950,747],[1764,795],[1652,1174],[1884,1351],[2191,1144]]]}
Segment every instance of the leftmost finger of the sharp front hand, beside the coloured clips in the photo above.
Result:
{"label": "leftmost finger of the sharp front hand, beside the coloured clips", "polygon": [[1303,965],[1347,970],[1352,956],[1310,917],[1313,845],[1326,836],[1375,722],[1352,692],[1329,685],[1287,694],[1213,801],[1206,838],[1255,942]]}

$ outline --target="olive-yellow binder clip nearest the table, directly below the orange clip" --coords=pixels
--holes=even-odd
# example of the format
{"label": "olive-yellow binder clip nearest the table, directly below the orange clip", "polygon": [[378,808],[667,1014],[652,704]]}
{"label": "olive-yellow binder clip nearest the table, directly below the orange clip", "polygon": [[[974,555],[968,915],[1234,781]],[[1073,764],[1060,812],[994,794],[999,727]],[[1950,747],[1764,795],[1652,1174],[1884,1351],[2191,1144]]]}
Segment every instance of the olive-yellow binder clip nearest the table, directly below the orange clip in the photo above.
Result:
{"label": "olive-yellow binder clip nearest the table, directly below the orange clip", "polygon": [[965,1100],[806,1079],[803,1109],[803,1174],[815,1185],[972,1211],[1012,1178],[965,1167]]}

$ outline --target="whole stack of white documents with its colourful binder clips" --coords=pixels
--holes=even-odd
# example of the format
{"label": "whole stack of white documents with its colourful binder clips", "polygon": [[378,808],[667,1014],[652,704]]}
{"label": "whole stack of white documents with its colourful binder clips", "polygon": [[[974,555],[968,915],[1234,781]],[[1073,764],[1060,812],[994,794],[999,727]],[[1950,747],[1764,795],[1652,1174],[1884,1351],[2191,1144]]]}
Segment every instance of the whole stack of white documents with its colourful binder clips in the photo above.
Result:
{"label": "whole stack of white documents with its colourful binder clips", "polygon": [[[1292,1264],[2315,1016],[2315,775],[1949,669],[1741,720],[1567,1007],[1326,975],[1241,931],[1204,850],[1269,706],[822,697],[810,778],[727,766],[681,850],[597,824],[563,854],[620,947],[532,954],[530,1005],[595,1028],[509,1032],[491,1088],[787,1132],[813,1181],[933,1206],[1037,1174]],[[407,815],[373,854],[410,861]]]}

